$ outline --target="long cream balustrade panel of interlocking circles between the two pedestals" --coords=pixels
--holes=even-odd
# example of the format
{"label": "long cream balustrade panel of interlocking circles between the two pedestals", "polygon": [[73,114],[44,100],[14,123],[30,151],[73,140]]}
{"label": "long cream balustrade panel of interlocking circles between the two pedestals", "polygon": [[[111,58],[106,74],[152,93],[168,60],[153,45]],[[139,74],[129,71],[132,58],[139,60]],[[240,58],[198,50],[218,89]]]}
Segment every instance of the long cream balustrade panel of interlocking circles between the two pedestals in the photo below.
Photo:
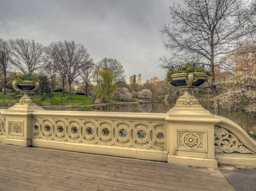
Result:
{"label": "long cream balustrade panel of interlocking circles between the two pedestals", "polygon": [[166,123],[35,117],[33,139],[166,151]]}

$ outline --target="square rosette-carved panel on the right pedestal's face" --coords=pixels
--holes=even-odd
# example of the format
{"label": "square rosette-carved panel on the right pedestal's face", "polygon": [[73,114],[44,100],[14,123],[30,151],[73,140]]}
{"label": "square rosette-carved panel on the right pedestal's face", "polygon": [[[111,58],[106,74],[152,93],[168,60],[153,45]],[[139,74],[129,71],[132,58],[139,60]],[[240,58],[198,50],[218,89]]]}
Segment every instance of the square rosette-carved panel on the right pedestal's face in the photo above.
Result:
{"label": "square rosette-carved panel on the right pedestal's face", "polygon": [[207,152],[207,131],[176,130],[176,150]]}

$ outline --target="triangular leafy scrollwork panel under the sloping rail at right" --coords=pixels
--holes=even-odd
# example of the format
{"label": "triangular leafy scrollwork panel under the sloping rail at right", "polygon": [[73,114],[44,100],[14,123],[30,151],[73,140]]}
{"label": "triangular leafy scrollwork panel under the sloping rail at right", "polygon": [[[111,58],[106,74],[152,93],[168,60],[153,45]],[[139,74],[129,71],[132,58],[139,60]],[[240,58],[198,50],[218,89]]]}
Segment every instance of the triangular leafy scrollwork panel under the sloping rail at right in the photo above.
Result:
{"label": "triangular leafy scrollwork panel under the sloping rail at right", "polygon": [[233,133],[223,127],[214,127],[214,138],[215,153],[256,154],[245,147]]}

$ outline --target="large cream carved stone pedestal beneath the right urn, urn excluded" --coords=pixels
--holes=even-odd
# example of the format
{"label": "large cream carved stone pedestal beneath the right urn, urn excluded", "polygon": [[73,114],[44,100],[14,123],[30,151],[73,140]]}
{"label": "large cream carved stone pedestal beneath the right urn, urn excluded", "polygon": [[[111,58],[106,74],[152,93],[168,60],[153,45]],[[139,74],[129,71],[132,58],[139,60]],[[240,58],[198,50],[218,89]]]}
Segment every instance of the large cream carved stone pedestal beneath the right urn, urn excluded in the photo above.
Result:
{"label": "large cream carved stone pedestal beneath the right urn, urn excluded", "polygon": [[168,163],[218,168],[214,125],[220,120],[204,109],[188,90],[170,109],[166,121],[169,121]]}

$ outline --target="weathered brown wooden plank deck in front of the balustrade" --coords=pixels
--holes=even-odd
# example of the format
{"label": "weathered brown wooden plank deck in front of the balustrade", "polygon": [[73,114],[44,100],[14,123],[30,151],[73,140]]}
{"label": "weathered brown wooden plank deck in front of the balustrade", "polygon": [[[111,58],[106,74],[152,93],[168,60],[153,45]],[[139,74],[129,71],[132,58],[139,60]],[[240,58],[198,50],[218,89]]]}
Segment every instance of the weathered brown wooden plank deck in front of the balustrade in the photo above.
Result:
{"label": "weathered brown wooden plank deck in front of the balustrade", "polygon": [[220,171],[0,143],[0,191],[234,191]]}

